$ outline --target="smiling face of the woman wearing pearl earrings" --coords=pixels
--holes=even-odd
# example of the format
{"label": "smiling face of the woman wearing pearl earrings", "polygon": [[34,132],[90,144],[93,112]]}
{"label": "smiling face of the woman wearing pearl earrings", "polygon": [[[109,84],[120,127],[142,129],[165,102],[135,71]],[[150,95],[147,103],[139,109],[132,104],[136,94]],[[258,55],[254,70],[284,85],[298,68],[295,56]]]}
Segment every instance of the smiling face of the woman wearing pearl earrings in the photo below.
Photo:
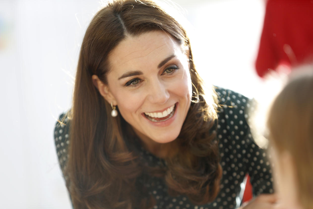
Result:
{"label": "smiling face of the woman wearing pearl earrings", "polygon": [[162,31],[121,41],[109,55],[108,102],[142,140],[177,138],[192,97],[188,55]]}

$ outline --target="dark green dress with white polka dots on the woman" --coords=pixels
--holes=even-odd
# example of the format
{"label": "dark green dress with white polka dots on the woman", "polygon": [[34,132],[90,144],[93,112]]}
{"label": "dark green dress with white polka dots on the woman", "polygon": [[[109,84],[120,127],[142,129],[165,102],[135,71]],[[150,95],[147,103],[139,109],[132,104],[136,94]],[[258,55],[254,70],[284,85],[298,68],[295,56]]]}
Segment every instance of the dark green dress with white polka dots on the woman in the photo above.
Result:
{"label": "dark green dress with white polka dots on the woman", "polygon": [[[253,141],[249,131],[245,113],[248,99],[238,93],[223,88],[217,88],[219,96],[218,134],[219,151],[223,176],[220,192],[216,199],[205,205],[194,205],[187,196],[172,197],[167,193],[167,185],[163,179],[150,177],[144,185],[149,194],[156,200],[155,209],[231,209],[239,206],[240,184],[246,174],[249,174],[254,196],[260,193],[272,193],[272,177],[266,152]],[[60,117],[63,117],[61,115]],[[68,119],[65,119],[65,123]],[[57,124],[54,132],[56,151],[61,170],[64,170],[69,144],[68,125]],[[141,149],[143,158],[149,164],[164,164],[148,151]],[[68,181],[67,176],[64,176]]]}

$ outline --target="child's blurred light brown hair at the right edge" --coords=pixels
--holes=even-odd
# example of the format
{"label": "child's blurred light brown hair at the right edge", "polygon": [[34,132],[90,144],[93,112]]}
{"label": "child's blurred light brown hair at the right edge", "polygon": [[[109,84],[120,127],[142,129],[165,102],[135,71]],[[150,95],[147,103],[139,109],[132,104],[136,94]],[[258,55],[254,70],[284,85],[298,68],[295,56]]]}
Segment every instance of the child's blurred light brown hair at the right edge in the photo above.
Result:
{"label": "child's blurred light brown hair at the right edge", "polygon": [[293,78],[275,98],[269,112],[269,139],[278,154],[294,160],[298,198],[313,207],[313,69]]}

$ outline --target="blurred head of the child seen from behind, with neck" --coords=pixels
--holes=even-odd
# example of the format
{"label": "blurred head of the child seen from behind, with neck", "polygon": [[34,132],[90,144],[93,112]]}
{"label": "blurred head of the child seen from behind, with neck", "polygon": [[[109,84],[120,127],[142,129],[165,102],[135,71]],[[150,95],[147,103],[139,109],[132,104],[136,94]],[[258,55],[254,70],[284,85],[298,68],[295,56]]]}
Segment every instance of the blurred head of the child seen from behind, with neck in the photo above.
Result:
{"label": "blurred head of the child seen from behind, with neck", "polygon": [[313,207],[313,68],[293,76],[275,98],[268,118],[276,186],[293,208]]}

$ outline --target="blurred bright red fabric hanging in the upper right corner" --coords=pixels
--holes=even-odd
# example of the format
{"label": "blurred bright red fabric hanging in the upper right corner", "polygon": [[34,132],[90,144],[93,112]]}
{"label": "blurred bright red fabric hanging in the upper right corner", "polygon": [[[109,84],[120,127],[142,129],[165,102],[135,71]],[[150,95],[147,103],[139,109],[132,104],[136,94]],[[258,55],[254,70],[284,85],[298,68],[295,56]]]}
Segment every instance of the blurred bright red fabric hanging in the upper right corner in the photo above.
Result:
{"label": "blurred bright red fabric hanging in the upper right corner", "polygon": [[313,1],[268,0],[255,67],[263,77],[278,65],[313,61]]}

